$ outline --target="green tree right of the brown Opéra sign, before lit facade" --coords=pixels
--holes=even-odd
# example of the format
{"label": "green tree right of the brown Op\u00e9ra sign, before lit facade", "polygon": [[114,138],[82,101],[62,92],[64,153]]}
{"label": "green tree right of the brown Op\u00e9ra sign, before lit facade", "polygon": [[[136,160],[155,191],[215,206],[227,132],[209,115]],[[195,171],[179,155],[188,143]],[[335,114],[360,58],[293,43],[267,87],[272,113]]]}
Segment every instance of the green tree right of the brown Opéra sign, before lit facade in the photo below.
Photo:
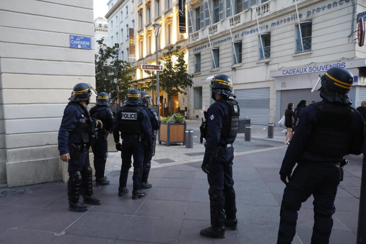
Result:
{"label": "green tree right of the brown Op\u00e9ra sign, before lit facade", "polygon": [[[164,68],[163,71],[159,71],[159,85],[169,96],[169,111],[173,110],[172,95],[177,93],[187,95],[187,87],[192,87],[193,85],[193,75],[188,74],[187,64],[184,60],[185,54],[186,51],[181,51],[180,46],[175,48],[169,47],[160,60],[160,64]],[[148,74],[154,75],[155,72]],[[156,83],[156,78],[154,78],[152,85],[154,83]],[[156,88],[156,86],[154,87]]]}

